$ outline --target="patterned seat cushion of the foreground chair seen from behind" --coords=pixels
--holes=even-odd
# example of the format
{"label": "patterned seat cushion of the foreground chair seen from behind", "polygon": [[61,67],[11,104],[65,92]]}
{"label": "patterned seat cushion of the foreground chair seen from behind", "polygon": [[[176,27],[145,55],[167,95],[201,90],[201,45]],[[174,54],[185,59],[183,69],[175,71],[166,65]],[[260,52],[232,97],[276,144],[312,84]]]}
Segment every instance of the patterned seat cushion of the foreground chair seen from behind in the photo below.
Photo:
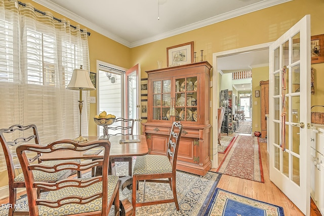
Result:
{"label": "patterned seat cushion of the foreground chair seen from behind", "polygon": [[[84,178],[86,179],[86,178]],[[116,188],[116,185],[119,181],[118,176],[116,175],[108,175],[108,202],[112,198],[112,194]],[[62,188],[57,191],[50,191],[41,194],[40,199],[47,200],[58,200],[66,196],[90,196],[94,193],[101,192],[102,190],[102,182],[96,183],[86,188]],[[84,213],[91,211],[101,210],[101,198],[96,199],[90,203],[80,205],[80,204],[67,204],[58,208],[50,208],[43,205],[38,205],[39,215],[42,216],[60,216],[60,215],[69,215],[76,213]]]}

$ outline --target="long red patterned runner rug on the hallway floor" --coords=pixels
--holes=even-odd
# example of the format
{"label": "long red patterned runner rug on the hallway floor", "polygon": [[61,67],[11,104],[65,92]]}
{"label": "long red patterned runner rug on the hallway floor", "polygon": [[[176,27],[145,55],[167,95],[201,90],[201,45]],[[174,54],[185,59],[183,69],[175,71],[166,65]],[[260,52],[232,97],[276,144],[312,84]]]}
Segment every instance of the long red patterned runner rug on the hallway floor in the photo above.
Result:
{"label": "long red patterned runner rug on the hallway floor", "polygon": [[238,135],[230,148],[217,172],[264,183],[258,137]]}

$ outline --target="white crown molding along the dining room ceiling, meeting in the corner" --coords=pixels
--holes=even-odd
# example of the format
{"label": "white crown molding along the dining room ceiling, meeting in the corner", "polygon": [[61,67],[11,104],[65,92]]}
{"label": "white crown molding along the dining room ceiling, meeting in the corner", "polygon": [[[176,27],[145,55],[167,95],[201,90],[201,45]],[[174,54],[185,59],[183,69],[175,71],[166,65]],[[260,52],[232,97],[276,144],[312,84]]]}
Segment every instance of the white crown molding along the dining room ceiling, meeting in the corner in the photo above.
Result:
{"label": "white crown molding along the dining room ceiling, meeting in the corner", "polygon": [[43,5],[43,6],[47,7],[48,9],[51,9],[51,10],[65,16],[65,17],[67,17],[81,25],[91,28],[92,30],[106,36],[107,38],[110,38],[113,41],[116,41],[122,45],[129,47],[129,48],[134,48],[134,47],[138,47],[138,46],[141,46],[144,44],[148,44],[148,43],[152,43],[152,42],[159,41],[162,39],[166,39],[166,38],[172,37],[174,35],[181,34],[181,33],[187,32],[187,31],[191,31],[191,30],[194,30],[197,28],[201,28],[201,27],[204,27],[207,25],[211,25],[211,24],[214,24],[217,22],[221,22],[221,21],[228,20],[228,19],[231,19],[234,17],[238,17],[238,16],[241,16],[244,14],[248,14],[248,13],[262,10],[265,8],[269,8],[269,7],[279,5],[282,3],[287,3],[287,2],[290,2],[293,0],[263,0],[261,2],[255,3],[250,6],[246,6],[246,7],[243,7],[243,8],[240,8],[240,9],[237,9],[237,10],[234,10],[234,11],[231,11],[231,12],[219,15],[219,16],[211,17],[209,19],[205,19],[205,20],[202,20],[199,22],[195,22],[190,25],[186,25],[186,26],[183,26],[183,27],[180,27],[180,28],[177,28],[172,31],[165,32],[165,33],[157,34],[157,35],[154,35],[153,37],[139,40],[136,42],[128,42],[124,39],[121,39],[120,37],[117,37],[115,34],[109,32],[106,29],[103,29],[102,27],[98,26],[97,24],[95,24],[93,22],[89,22],[88,20],[84,19],[83,17],[80,17],[80,16],[66,10],[63,7],[61,7],[55,3],[52,3],[49,0],[32,0],[32,1],[39,5]]}

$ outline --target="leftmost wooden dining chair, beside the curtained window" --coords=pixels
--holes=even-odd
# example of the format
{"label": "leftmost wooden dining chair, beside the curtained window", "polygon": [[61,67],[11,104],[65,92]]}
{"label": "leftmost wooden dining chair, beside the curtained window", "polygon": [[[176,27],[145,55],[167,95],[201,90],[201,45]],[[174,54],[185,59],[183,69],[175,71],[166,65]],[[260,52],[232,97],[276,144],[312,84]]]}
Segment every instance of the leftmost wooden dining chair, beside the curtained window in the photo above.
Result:
{"label": "leftmost wooden dining chair, beside the curtained window", "polygon": [[[23,173],[18,173],[21,166],[16,155],[16,148],[23,143],[34,143],[36,145],[39,145],[39,135],[36,125],[13,125],[9,128],[0,129],[0,142],[7,163],[9,203],[15,206],[17,199],[17,188],[25,188],[24,175]],[[38,161],[39,156],[40,154],[33,155],[29,158],[29,161]],[[48,161],[44,162],[44,164],[50,165],[58,162],[59,161]],[[34,177],[37,181],[57,181],[58,179],[65,178],[71,174],[72,170],[63,170],[56,174],[37,171],[34,173]],[[9,216],[12,216],[16,213],[17,211],[15,211],[15,208],[9,208]],[[19,213],[21,213],[21,211],[19,211]],[[28,212],[25,213],[27,213],[28,215]]]}

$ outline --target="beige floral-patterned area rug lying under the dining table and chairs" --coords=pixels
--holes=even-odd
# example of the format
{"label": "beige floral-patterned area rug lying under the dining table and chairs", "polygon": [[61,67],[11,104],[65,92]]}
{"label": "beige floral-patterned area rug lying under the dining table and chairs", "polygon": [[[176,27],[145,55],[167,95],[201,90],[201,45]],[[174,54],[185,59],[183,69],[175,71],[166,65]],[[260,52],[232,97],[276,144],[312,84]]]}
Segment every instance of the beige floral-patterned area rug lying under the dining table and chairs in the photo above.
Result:
{"label": "beige floral-patterned area rug lying under the dining table and chairs", "polygon": [[[133,163],[134,164],[134,163]],[[126,175],[128,173],[127,163],[116,162],[116,172],[118,175]],[[82,177],[87,177],[91,173],[83,174]],[[210,191],[214,191],[217,187],[222,174],[216,172],[207,172],[205,176],[199,176],[187,172],[177,171],[177,195],[180,206],[180,211],[177,211],[174,203],[150,205],[136,208],[136,215],[191,215],[196,216],[204,201],[209,200]],[[132,191],[127,188],[123,193],[132,200]],[[146,183],[145,200],[153,200],[157,197],[172,197],[169,184],[154,184]],[[143,199],[143,183],[140,183],[137,192],[137,199]],[[7,205],[8,206],[8,205]],[[20,210],[28,210],[28,201],[26,196],[22,196],[17,200],[17,206],[24,206]],[[0,216],[7,216],[8,208],[6,205],[0,206]],[[113,207],[110,209],[109,216],[114,215]]]}

